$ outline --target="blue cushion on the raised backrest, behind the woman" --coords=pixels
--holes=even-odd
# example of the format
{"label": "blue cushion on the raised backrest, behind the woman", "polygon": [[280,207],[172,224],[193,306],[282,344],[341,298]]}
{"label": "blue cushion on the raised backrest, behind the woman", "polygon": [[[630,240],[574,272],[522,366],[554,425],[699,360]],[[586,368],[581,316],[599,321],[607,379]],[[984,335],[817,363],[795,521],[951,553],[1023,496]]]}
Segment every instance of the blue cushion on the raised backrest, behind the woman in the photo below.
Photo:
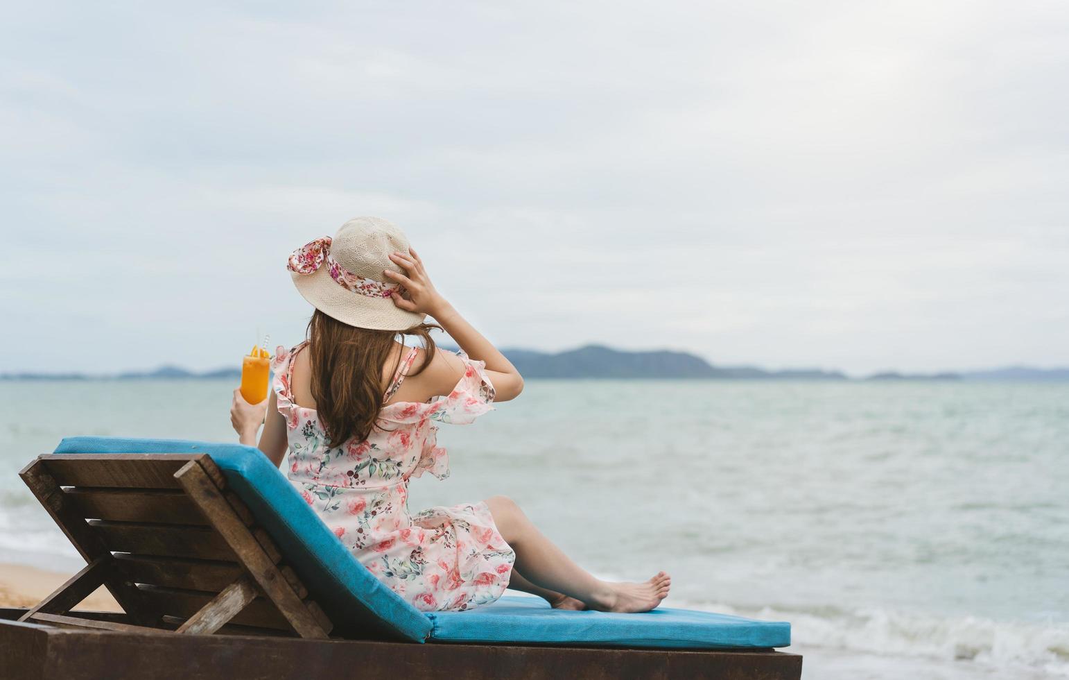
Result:
{"label": "blue cushion on the raised backrest, behind the woman", "polygon": [[66,437],[57,453],[207,453],[336,625],[423,642],[431,622],[363,568],[259,449],[179,439]]}

